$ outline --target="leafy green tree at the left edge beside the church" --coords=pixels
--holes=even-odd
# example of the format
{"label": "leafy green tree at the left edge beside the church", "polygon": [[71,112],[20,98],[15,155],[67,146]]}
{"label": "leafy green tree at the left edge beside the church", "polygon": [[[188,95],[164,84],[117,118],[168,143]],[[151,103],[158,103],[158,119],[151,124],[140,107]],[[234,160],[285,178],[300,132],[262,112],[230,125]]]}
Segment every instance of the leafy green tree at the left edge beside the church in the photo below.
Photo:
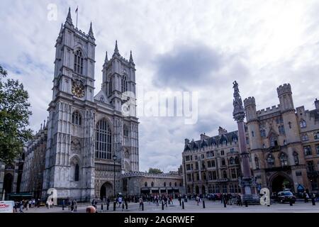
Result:
{"label": "leafy green tree at the left edge beside the church", "polygon": [[0,161],[10,163],[32,138],[32,131],[28,128],[32,113],[23,84],[6,79],[6,75],[6,70],[0,65]]}

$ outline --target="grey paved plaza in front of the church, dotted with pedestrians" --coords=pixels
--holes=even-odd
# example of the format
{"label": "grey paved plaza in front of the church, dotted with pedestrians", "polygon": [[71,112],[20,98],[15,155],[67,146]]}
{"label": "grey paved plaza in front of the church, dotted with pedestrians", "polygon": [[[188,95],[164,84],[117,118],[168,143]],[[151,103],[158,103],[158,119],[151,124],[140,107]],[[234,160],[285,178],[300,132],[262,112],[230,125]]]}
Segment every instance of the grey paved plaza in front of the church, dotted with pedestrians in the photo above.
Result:
{"label": "grey paved plaza in front of the church, dotted with pedestrians", "polygon": [[[128,210],[116,206],[116,211],[113,211],[113,204],[106,211],[106,205],[103,206],[103,213],[319,213],[319,204],[315,206],[311,202],[304,203],[303,201],[296,201],[296,204],[290,206],[290,204],[272,204],[271,206],[262,205],[250,205],[248,207],[237,206],[237,205],[227,205],[226,207],[220,203],[220,201],[205,201],[206,208],[203,209],[203,204],[200,203],[198,206],[196,201],[190,200],[184,203],[184,208],[179,206],[179,201],[174,200],[174,204],[168,204],[167,207],[164,206],[162,210],[162,205],[156,206],[156,204],[145,202],[144,211],[139,209],[139,204],[130,203],[128,204]],[[77,207],[77,212],[73,213],[84,213],[86,206],[89,204],[79,204]],[[65,208],[55,206],[52,209],[47,209],[45,206],[40,208],[31,208],[28,211],[23,211],[25,213],[72,213]],[[98,204],[98,212],[101,213],[101,204]]]}

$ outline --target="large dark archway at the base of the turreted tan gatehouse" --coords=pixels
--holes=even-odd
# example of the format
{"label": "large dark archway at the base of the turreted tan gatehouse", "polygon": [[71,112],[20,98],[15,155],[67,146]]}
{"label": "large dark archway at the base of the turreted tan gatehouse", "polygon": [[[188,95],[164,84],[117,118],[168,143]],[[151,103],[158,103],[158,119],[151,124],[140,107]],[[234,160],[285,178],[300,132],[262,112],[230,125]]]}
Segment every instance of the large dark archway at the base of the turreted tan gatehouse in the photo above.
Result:
{"label": "large dark archway at the base of the turreted tan gatehouse", "polygon": [[272,189],[272,193],[278,193],[284,191],[285,189],[289,189],[289,191],[294,192],[293,189],[293,180],[286,174],[279,173],[275,174],[270,179],[270,189]]}

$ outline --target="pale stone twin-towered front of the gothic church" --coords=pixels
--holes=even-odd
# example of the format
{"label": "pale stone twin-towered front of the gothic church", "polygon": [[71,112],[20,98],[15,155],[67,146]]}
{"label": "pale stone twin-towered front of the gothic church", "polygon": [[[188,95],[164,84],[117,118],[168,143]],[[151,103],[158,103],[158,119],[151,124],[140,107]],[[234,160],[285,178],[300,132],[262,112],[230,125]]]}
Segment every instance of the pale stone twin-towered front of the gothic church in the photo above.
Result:
{"label": "pale stone twin-towered front of the gothic church", "polygon": [[43,196],[50,188],[57,190],[58,199],[87,201],[113,196],[114,184],[116,192],[121,192],[121,174],[138,171],[132,53],[130,60],[125,60],[116,42],[111,60],[106,54],[101,91],[94,96],[96,44],[92,24],[87,34],[74,28],[69,9],[55,48]]}

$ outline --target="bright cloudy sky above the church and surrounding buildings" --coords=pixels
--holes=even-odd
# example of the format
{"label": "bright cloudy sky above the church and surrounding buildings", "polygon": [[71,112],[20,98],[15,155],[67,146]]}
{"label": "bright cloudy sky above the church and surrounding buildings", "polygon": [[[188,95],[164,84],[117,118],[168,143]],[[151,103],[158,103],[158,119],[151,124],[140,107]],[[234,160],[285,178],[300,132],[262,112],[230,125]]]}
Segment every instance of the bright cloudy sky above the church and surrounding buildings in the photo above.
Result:
{"label": "bright cloudy sky above the church and surrounding buildings", "polygon": [[[57,20],[47,19],[49,4]],[[55,40],[71,6],[79,6],[78,27],[93,23],[96,91],[101,88],[105,51],[115,40],[123,57],[130,50],[137,84],[146,91],[199,92],[198,121],[140,116],[140,170],[165,172],[181,164],[184,138],[233,131],[233,81],[242,99],[254,96],[257,109],[279,103],[276,87],[289,82],[295,106],[314,109],[319,98],[319,1],[217,0],[2,0],[0,64],[30,94],[37,131],[52,99]]]}

